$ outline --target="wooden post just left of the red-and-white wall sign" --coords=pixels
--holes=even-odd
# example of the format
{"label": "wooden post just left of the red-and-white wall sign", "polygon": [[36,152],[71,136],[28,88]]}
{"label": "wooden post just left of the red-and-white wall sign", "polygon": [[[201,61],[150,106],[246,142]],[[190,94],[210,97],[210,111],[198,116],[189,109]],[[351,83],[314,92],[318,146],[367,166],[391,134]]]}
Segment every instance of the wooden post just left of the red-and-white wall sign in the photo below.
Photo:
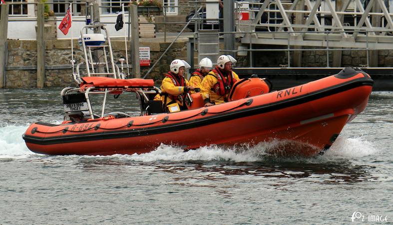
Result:
{"label": "wooden post just left of the red-and-white wall sign", "polygon": [[132,70],[135,78],[140,78],[139,64],[139,24],[138,24],[138,7],[134,4],[129,6],[129,16],[131,16],[131,61]]}

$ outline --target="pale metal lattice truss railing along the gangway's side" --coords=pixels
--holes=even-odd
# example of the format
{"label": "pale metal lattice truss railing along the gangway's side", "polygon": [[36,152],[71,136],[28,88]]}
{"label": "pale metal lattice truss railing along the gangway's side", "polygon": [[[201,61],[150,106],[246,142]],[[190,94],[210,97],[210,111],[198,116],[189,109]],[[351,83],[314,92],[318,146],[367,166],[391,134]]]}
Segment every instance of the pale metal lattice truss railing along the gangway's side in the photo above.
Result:
{"label": "pale metal lattice truss railing along the gangway's side", "polygon": [[[252,16],[254,18],[249,22],[249,26],[251,27],[249,31],[258,31],[259,29],[268,31],[288,30],[290,32],[298,30],[340,30],[345,31],[341,32],[343,37],[356,39],[361,33],[353,33],[353,30],[367,29],[375,31],[379,29],[393,29],[393,13],[389,12],[384,0],[370,1],[366,8],[361,0],[343,0],[344,3],[340,10],[336,10],[336,1],[334,0],[293,0],[293,2],[265,0],[263,3],[253,1],[239,2],[250,5],[249,9],[243,8],[243,11],[247,11],[250,14],[255,13],[255,16]],[[272,9],[272,4],[277,9]],[[323,10],[322,6],[328,10]],[[239,10],[239,8],[236,9],[237,12]],[[275,14],[273,20],[270,18],[271,13]],[[382,18],[382,25],[372,24],[373,18],[371,17],[373,16]],[[266,20],[262,19],[266,17]],[[351,19],[348,20],[346,17],[350,17]],[[277,21],[281,22],[277,23]],[[237,18],[237,24],[241,25],[239,17]],[[302,34],[302,36],[304,35],[305,33]],[[380,33],[380,35],[387,35],[387,32]]]}

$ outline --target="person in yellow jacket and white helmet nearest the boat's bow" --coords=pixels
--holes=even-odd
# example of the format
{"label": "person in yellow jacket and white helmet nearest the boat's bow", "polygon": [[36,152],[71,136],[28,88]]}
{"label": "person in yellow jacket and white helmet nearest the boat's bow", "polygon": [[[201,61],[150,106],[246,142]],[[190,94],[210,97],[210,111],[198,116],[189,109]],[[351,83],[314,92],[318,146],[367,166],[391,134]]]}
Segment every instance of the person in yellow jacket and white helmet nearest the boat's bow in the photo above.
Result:
{"label": "person in yellow jacket and white helmet nearest the boat's bow", "polygon": [[228,101],[228,94],[239,76],[232,71],[236,59],[231,55],[220,55],[217,66],[202,80],[201,95],[205,106],[221,104]]}

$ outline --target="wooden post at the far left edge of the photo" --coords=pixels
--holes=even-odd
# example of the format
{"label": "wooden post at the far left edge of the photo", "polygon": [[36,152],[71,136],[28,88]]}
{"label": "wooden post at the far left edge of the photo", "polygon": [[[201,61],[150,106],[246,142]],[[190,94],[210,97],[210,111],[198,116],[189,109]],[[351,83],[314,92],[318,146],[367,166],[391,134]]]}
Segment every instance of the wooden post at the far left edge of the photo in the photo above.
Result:
{"label": "wooden post at the far left edge of the photo", "polygon": [[8,54],[7,29],[8,29],[8,4],[0,4],[0,88],[5,87],[5,65]]}

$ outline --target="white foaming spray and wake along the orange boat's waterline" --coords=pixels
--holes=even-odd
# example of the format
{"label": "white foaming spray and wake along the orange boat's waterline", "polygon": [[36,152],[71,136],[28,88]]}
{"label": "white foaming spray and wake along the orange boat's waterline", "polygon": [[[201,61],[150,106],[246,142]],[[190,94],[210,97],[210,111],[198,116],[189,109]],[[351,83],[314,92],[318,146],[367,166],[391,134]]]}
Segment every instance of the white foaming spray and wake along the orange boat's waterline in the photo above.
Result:
{"label": "white foaming spray and wake along the orange boat's waterline", "polygon": [[[26,126],[4,125],[0,127],[0,158],[28,158],[42,155],[35,154],[28,150],[22,133]],[[197,149],[184,151],[182,148],[174,145],[161,144],[155,150],[144,154],[133,155],[116,155],[118,158],[133,161],[188,161],[188,160],[202,160],[202,161],[261,161],[271,159],[269,149],[277,147],[280,141],[273,140],[270,142],[261,142],[256,145],[235,145],[231,147],[224,147],[218,145],[202,146]],[[337,160],[341,158],[359,158],[370,154],[374,154],[377,150],[372,143],[364,140],[363,137],[339,137],[333,146],[323,156],[316,156],[319,160]],[[78,156],[79,157],[79,156]],[[97,156],[84,156],[97,157]],[[99,156],[98,156],[99,157]],[[113,156],[111,156],[113,157]],[[315,160],[311,159],[311,160]],[[285,159],[287,160],[287,159]],[[304,160],[304,158],[291,158],[289,160]],[[307,161],[309,161],[308,159]]]}

